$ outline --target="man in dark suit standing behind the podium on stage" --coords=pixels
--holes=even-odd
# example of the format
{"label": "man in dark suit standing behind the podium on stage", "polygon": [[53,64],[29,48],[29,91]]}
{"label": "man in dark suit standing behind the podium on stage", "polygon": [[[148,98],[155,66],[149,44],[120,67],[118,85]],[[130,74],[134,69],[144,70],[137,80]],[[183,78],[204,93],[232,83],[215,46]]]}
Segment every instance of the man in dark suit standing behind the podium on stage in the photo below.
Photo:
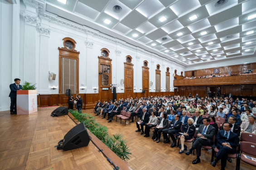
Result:
{"label": "man in dark suit standing behind the podium on stage", "polygon": [[10,94],[9,97],[11,99],[10,104],[10,113],[11,114],[17,114],[16,109],[16,99],[17,99],[17,90],[22,90],[22,86],[20,85],[20,79],[14,79],[14,84],[10,84]]}

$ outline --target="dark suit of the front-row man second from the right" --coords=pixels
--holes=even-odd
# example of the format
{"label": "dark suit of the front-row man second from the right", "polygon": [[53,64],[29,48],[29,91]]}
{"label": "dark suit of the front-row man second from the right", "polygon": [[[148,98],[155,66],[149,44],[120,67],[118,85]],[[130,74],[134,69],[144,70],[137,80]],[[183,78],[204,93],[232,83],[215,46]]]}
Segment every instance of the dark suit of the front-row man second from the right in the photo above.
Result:
{"label": "dark suit of the front-row man second from the right", "polygon": [[[197,130],[197,134],[202,134],[204,127],[205,126],[203,124],[200,125]],[[207,137],[207,139],[202,139],[202,138],[197,137],[196,141],[192,145],[193,149],[197,149],[197,156],[201,156],[201,146],[202,145],[205,145],[205,146],[210,145],[212,147],[215,146],[214,142],[213,142],[214,135],[215,135],[215,128],[209,124],[205,134],[202,134],[202,136]]]}

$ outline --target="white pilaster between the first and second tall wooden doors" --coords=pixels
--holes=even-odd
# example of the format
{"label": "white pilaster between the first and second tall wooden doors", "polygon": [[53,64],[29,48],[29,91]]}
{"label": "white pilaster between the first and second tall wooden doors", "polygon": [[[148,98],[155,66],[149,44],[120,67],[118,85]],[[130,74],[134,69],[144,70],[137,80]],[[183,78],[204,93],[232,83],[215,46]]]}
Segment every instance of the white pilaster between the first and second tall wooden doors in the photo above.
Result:
{"label": "white pilaster between the first and second tall wooden doors", "polygon": [[[93,64],[92,58],[93,58],[93,46],[94,42],[91,42],[90,40],[86,41],[86,93],[94,93],[93,90],[93,76],[92,76],[92,70],[93,70]],[[98,86],[98,85],[97,85]]]}

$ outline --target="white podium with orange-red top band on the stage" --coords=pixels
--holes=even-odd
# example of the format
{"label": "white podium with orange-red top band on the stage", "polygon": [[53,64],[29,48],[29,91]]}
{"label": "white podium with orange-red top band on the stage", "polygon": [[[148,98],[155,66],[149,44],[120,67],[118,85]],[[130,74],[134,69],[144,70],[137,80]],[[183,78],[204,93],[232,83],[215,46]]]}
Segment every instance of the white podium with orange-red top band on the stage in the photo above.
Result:
{"label": "white podium with orange-red top band on the stage", "polygon": [[17,114],[37,112],[37,91],[17,90]]}

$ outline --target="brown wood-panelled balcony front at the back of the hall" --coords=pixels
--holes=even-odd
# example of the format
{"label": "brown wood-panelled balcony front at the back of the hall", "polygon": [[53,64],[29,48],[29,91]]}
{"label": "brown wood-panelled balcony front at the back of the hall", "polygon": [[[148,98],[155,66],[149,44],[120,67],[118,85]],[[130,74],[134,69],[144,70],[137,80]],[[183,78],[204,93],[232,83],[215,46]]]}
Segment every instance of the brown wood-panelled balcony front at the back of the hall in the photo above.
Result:
{"label": "brown wood-panelled balcony front at the back of the hall", "polygon": [[197,79],[173,80],[174,86],[184,85],[238,85],[238,84],[256,84],[256,74],[244,76],[225,76]]}

